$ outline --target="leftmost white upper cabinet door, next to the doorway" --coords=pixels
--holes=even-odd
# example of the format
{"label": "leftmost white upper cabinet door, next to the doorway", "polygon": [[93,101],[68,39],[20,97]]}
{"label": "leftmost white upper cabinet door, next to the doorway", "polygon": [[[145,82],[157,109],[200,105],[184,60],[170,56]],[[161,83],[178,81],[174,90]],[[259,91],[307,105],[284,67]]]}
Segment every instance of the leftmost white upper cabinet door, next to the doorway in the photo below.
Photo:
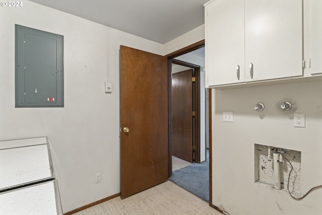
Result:
{"label": "leftmost white upper cabinet door, next to the doorway", "polygon": [[205,6],[205,31],[206,85],[244,82],[244,1],[216,0]]}

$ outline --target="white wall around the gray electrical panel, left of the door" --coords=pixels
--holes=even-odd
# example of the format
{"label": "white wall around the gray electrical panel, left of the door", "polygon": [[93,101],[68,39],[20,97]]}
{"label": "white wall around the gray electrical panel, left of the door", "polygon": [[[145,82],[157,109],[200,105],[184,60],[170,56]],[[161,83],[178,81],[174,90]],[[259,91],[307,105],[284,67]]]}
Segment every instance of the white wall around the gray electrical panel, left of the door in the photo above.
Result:
{"label": "white wall around the gray electrical panel, left of the door", "polygon": [[[119,45],[164,45],[29,1],[0,20],[0,140],[49,137],[64,212],[119,193]],[[15,24],[64,35],[64,108],[15,108]]]}

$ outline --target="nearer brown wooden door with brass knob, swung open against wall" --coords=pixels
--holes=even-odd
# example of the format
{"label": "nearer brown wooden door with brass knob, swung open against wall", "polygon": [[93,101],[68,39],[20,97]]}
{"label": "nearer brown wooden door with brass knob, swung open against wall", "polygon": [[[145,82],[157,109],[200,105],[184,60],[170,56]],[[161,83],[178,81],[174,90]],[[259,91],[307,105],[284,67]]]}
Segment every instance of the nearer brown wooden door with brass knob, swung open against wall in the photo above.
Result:
{"label": "nearer brown wooden door with brass knob, swung open against wall", "polygon": [[126,46],[120,47],[120,61],[125,198],[168,180],[168,64],[164,56]]}

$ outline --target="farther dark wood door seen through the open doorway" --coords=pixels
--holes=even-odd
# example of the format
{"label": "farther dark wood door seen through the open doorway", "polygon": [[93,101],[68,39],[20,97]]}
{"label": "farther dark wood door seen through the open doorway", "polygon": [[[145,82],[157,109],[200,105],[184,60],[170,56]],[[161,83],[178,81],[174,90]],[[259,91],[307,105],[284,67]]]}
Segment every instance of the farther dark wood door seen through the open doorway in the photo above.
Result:
{"label": "farther dark wood door seen through the open doorway", "polygon": [[193,162],[192,69],[172,75],[172,155]]}

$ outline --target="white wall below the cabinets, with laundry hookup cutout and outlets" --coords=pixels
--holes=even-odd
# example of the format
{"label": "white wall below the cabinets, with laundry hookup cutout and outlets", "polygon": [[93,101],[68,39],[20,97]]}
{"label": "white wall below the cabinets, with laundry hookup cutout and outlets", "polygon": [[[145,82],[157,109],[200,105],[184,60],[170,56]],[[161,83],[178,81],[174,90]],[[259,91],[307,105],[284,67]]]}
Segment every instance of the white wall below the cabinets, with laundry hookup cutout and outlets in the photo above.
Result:
{"label": "white wall below the cabinets, with laundry hookup cutout and outlets", "polygon": [[[233,215],[321,214],[322,189],[301,201],[288,193],[254,183],[254,144],[301,152],[302,194],[322,184],[322,83],[299,83],[212,94],[213,204]],[[290,100],[305,113],[306,128],[293,127],[293,114],[283,114],[278,102]],[[253,105],[263,102],[262,112]],[[294,109],[293,109],[294,110]],[[233,111],[234,122],[222,122]]]}

